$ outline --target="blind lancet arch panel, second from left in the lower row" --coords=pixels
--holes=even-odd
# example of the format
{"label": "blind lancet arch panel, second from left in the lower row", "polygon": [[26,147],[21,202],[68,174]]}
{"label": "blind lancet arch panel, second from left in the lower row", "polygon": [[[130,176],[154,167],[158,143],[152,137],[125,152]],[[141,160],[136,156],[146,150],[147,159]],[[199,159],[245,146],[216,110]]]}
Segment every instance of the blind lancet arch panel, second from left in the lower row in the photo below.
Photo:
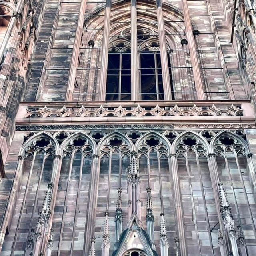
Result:
{"label": "blind lancet arch panel, second from left in the lower row", "polygon": [[83,134],[63,142],[63,155],[52,221],[52,256],[81,254],[85,239],[86,210],[93,145]]}

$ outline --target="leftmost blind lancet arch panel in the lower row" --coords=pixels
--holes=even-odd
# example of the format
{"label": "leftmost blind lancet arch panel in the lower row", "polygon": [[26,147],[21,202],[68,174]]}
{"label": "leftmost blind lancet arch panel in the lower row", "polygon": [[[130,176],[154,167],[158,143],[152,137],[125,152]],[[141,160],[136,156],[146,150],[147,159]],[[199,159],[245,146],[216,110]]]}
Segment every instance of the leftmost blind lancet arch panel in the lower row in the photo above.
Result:
{"label": "leftmost blind lancet arch panel in the lower row", "polygon": [[22,178],[20,190],[16,191],[16,207],[7,237],[12,242],[12,256],[38,254],[42,237],[48,233],[56,147],[53,138],[38,134],[30,138],[21,150],[17,171]]}

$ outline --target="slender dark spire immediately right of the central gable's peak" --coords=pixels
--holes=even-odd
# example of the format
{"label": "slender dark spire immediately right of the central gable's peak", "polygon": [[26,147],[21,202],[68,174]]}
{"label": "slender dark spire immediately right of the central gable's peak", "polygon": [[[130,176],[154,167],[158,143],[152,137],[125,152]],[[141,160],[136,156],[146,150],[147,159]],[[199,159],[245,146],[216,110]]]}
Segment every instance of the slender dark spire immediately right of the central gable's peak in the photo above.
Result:
{"label": "slender dark spire immediately right of the central gable's peak", "polygon": [[147,206],[146,206],[146,223],[147,223],[147,231],[148,236],[150,238],[152,249],[155,250],[154,245],[154,215],[153,215],[153,206],[152,206],[152,200],[151,200],[151,189],[150,187],[147,188],[148,193],[148,200],[147,200]]}

